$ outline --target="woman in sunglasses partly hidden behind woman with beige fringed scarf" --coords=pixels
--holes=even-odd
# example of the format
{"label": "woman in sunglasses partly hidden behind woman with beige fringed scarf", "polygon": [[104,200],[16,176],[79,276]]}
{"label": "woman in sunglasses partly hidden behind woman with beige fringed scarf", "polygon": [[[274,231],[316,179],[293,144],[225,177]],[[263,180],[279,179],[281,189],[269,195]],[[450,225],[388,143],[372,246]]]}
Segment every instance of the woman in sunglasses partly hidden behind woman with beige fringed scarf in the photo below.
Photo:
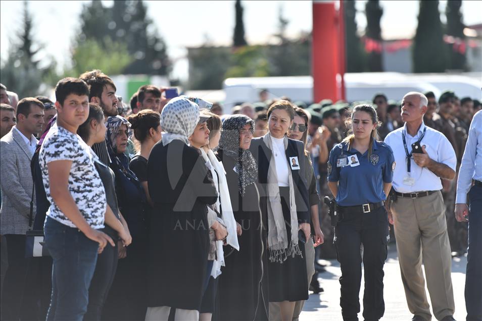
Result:
{"label": "woman in sunglasses partly hidden behind woman with beige fringed scarf", "polygon": [[[304,162],[304,166],[307,168],[305,171],[306,181],[308,182],[308,195],[310,200],[310,211],[311,211],[311,234],[314,236],[315,242],[310,237],[305,243],[305,253],[306,253],[306,271],[308,276],[308,284],[311,284],[312,279],[314,282],[317,281],[318,273],[315,273],[315,247],[324,242],[324,235],[321,232],[320,220],[318,214],[318,204],[320,202],[320,196],[316,190],[316,177],[313,171],[313,165],[311,164],[310,154],[306,150],[306,140],[307,140],[307,128],[308,128],[309,116],[301,108],[295,107],[295,118],[293,120],[293,125],[288,131],[288,137],[291,139],[302,141],[305,146],[305,155],[300,159],[300,162]],[[298,319],[301,311],[303,310],[303,305],[305,301],[297,301],[295,304],[295,312],[293,314],[293,319]]]}

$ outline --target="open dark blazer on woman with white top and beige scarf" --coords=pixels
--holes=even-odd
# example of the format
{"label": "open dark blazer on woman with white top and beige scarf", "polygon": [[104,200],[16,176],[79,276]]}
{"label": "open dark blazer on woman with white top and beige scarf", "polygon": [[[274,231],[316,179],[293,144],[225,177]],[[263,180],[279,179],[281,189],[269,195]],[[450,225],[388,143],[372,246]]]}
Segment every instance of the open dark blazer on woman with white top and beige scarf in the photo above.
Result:
{"label": "open dark blazer on woman with white top and beige scarf", "polygon": [[[266,134],[266,135],[269,135]],[[260,207],[261,210],[267,210],[267,183],[268,183],[268,168],[271,160],[272,152],[263,141],[263,137],[253,138],[251,140],[250,151],[258,163],[258,185],[260,192]],[[308,171],[312,169],[306,166],[304,161],[305,153],[303,142],[288,138],[288,146],[285,151],[286,161],[290,166],[291,174],[293,176],[293,184],[295,186],[296,209],[299,223],[310,223],[310,201],[308,195],[308,183],[306,177]],[[292,169],[290,157],[298,157],[299,169]]]}

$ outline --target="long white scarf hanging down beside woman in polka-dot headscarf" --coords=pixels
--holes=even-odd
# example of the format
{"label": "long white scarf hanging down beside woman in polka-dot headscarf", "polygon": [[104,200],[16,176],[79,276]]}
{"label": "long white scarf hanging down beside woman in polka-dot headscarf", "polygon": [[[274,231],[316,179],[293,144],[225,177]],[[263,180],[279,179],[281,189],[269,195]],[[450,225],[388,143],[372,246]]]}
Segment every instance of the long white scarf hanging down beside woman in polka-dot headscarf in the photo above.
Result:
{"label": "long white scarf hanging down beside woman in polka-dot headscarf", "polygon": [[[204,149],[201,148],[201,155],[203,156],[204,161],[206,161],[207,164],[211,165],[208,166],[208,169],[211,171],[216,171],[219,179],[219,186],[217,182],[214,182],[214,185],[218,189],[218,194],[221,199],[221,219],[224,221],[224,224],[226,225],[226,230],[228,232],[226,243],[239,251],[239,243],[236,233],[236,220],[234,220],[234,214],[231,206],[231,198],[229,197],[229,190],[226,181],[226,172],[224,172],[224,167],[222,163],[218,161],[216,155],[211,149],[208,150],[208,153],[206,153]],[[216,252],[217,259],[214,260],[213,270],[211,271],[211,276],[215,279],[221,274],[221,266],[225,266],[223,241],[216,241]]]}

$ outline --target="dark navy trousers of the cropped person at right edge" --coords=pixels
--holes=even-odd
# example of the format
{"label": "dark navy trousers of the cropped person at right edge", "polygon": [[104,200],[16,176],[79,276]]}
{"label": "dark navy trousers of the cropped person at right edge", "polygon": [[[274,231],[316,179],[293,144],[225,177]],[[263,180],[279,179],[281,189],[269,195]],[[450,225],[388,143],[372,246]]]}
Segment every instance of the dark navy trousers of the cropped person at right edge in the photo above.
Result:
{"label": "dark navy trousers of the cropped person at right edge", "polygon": [[482,187],[472,186],[469,193],[467,271],[465,307],[467,321],[482,320]]}

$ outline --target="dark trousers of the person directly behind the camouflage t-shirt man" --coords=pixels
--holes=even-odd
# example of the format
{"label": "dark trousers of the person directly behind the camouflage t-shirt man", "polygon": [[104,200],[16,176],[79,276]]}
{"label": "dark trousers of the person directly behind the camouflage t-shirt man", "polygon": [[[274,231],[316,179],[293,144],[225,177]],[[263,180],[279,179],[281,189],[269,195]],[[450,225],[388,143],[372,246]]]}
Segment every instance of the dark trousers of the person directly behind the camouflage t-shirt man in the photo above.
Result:
{"label": "dark trousers of the person directly behind the camouflage t-shirt man", "polygon": [[118,250],[116,246],[107,244],[101,254],[97,257],[94,275],[90,281],[89,303],[84,320],[100,320],[102,309],[106,302],[107,295],[114,281],[117,270]]}

